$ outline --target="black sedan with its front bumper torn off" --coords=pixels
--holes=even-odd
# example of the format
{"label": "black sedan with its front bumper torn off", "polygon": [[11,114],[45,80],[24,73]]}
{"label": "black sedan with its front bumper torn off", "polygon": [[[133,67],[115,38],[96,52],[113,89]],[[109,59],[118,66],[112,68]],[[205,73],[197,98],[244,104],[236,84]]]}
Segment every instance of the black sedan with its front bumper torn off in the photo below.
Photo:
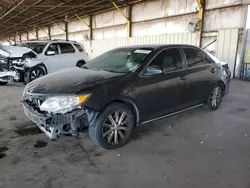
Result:
{"label": "black sedan with its front bumper torn off", "polygon": [[31,82],[23,107],[50,139],[88,129],[96,145],[113,149],[137,125],[203,104],[217,109],[229,91],[229,75],[195,46],[123,47]]}

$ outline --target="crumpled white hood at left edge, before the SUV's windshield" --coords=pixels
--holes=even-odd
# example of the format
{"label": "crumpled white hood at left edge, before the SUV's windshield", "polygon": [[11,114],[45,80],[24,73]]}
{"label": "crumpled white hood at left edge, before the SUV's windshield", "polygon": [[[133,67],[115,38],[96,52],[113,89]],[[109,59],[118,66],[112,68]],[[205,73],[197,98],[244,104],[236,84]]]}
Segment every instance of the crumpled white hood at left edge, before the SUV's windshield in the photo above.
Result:
{"label": "crumpled white hood at left edge, before the SUV's windshield", "polygon": [[3,56],[3,57],[22,57],[23,54],[28,53],[30,51],[36,54],[30,48],[21,47],[21,46],[0,45],[0,56]]}

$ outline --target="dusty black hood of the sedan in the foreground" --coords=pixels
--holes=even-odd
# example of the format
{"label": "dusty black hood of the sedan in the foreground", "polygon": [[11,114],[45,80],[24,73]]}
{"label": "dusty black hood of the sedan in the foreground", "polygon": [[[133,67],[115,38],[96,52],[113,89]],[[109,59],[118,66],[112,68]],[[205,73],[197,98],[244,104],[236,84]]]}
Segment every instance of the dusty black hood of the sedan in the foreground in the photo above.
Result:
{"label": "dusty black hood of the sedan in the foreground", "polygon": [[34,80],[26,86],[25,91],[29,94],[41,95],[77,94],[85,89],[117,79],[123,75],[124,73],[75,67]]}

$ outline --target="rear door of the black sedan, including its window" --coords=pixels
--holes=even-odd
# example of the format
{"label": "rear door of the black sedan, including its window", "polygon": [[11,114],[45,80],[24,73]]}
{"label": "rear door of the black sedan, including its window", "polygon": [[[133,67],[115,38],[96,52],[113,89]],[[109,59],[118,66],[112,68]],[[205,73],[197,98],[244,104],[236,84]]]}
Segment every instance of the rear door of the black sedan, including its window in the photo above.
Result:
{"label": "rear door of the black sedan, including its window", "polygon": [[204,102],[212,88],[217,68],[204,52],[195,47],[183,48],[187,61],[189,87],[187,90],[188,106]]}

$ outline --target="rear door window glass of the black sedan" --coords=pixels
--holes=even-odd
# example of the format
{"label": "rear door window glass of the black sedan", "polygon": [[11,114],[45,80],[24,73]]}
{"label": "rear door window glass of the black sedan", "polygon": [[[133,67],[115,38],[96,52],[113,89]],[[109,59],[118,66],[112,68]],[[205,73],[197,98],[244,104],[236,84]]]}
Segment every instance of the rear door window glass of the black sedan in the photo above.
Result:
{"label": "rear door window glass of the black sedan", "polygon": [[199,50],[194,48],[184,48],[183,50],[186,55],[187,64],[189,68],[206,65],[209,63],[206,56]]}

